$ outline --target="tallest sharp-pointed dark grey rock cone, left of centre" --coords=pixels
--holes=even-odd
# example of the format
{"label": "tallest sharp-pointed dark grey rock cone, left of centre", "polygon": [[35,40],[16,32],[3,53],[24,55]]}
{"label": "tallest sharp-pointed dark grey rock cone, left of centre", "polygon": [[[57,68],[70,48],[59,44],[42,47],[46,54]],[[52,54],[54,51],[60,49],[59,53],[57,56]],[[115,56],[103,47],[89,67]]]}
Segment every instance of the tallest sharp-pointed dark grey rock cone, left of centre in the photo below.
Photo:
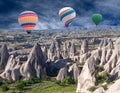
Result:
{"label": "tallest sharp-pointed dark grey rock cone, left of centre", "polygon": [[31,76],[41,78],[45,74],[45,59],[38,43],[33,47],[27,62],[21,66],[20,72],[26,80]]}

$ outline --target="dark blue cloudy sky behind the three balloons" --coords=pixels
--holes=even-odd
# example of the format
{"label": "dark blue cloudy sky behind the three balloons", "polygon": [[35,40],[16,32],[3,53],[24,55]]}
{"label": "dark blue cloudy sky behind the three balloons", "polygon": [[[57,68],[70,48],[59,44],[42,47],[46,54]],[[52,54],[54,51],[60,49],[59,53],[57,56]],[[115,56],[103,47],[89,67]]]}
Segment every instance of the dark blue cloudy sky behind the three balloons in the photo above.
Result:
{"label": "dark blue cloudy sky behind the three balloons", "polygon": [[91,16],[103,15],[100,25],[120,26],[120,0],[0,0],[0,29],[21,29],[18,15],[31,10],[38,14],[35,29],[61,29],[58,12],[63,7],[72,7],[77,16],[70,27],[94,26]]}

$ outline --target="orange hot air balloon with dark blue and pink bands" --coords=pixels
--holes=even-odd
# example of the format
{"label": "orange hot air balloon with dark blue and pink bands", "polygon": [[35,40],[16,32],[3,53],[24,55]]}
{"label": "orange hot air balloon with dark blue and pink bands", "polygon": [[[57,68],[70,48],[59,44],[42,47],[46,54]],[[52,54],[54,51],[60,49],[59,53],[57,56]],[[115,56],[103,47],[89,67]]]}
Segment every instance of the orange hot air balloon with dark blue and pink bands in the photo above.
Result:
{"label": "orange hot air balloon with dark blue and pink bands", "polygon": [[19,14],[18,22],[21,27],[30,34],[38,23],[38,15],[33,11],[24,11]]}

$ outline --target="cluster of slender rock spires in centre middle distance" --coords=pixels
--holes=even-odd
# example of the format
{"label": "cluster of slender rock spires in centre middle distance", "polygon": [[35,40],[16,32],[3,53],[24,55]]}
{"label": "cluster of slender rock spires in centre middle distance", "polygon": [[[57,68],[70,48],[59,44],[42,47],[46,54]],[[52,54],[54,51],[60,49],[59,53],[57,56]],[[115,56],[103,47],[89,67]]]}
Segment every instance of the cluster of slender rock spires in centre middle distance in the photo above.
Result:
{"label": "cluster of slender rock spires in centre middle distance", "polygon": [[[61,49],[62,47],[62,49]],[[63,42],[60,45],[58,41],[53,41],[48,50],[48,60],[55,61],[58,59],[75,59],[76,47],[73,41]]]}

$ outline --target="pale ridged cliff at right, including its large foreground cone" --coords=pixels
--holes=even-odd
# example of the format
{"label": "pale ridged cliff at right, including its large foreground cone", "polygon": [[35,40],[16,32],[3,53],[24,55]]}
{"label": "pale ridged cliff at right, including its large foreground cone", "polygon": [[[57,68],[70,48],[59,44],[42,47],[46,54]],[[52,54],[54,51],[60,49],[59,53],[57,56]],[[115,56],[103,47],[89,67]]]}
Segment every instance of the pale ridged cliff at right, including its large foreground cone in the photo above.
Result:
{"label": "pale ridged cliff at right, including its large foreground cone", "polygon": [[80,56],[80,61],[84,61],[85,64],[78,77],[77,92],[86,92],[89,87],[95,86],[96,64],[104,68],[104,71],[99,73],[100,75],[107,72],[114,79],[119,77],[119,74],[116,75],[120,70],[119,39],[116,42],[113,44],[111,39],[104,39],[101,41],[98,49],[89,52],[89,57],[87,57],[88,53]]}

